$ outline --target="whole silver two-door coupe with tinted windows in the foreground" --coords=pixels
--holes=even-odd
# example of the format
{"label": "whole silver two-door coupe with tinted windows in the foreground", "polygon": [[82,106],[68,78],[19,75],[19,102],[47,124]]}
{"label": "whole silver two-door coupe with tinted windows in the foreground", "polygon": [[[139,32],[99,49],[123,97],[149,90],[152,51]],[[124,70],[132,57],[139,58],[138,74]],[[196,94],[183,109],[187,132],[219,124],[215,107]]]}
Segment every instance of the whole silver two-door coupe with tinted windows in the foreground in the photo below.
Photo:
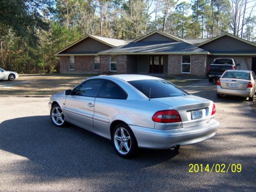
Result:
{"label": "whole silver two-door coupe with tinted windows in the foreground", "polygon": [[50,98],[56,126],[67,122],[111,139],[121,157],[137,147],[178,150],[216,134],[214,102],[146,75],[90,77]]}

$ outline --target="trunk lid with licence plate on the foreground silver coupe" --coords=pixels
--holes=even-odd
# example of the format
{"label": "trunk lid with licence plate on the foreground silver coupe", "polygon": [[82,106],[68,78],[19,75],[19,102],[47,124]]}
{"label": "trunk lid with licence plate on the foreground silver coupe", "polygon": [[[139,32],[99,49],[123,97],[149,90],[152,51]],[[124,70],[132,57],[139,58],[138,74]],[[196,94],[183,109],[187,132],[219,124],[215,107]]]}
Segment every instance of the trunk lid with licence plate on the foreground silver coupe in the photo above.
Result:
{"label": "trunk lid with licence plate on the foreground silver coupe", "polygon": [[207,123],[212,118],[211,111],[213,102],[208,99],[194,95],[186,95],[154,98],[152,100],[172,106],[174,110],[177,110],[181,116],[183,128]]}

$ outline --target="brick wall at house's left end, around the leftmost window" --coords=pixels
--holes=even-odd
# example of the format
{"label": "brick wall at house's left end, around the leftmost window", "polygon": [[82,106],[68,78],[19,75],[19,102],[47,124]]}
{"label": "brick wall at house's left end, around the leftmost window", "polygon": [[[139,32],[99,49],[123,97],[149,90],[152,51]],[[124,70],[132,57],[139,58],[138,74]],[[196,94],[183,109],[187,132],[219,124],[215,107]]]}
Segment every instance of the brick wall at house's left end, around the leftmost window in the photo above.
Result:
{"label": "brick wall at house's left end, around the leftmost window", "polygon": [[60,56],[60,73],[99,74],[94,70],[94,56],[75,56],[75,70],[69,69],[69,56]]}

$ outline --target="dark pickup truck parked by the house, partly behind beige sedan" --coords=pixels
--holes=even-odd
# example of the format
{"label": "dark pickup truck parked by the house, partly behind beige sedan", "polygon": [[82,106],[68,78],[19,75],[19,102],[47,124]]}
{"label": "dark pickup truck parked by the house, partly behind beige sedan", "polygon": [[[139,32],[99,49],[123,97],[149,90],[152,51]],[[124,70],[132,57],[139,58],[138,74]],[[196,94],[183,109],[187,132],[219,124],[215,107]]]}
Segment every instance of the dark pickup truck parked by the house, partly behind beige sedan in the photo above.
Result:
{"label": "dark pickup truck parked by the house, partly behind beige sedan", "polygon": [[235,70],[238,66],[240,66],[240,63],[236,65],[236,61],[234,59],[214,59],[212,64],[208,66],[209,82],[213,82],[214,79],[219,79],[226,70]]}

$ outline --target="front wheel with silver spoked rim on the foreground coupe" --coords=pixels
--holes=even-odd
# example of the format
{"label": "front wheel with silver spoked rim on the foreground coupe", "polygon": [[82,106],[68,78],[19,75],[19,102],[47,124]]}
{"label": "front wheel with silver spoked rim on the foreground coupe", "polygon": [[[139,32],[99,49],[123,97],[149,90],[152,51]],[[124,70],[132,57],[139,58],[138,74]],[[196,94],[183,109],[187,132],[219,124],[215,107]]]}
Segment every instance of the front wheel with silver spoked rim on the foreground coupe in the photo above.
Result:
{"label": "front wheel with silver spoked rim on the foreground coupe", "polygon": [[64,127],[67,125],[63,111],[58,104],[52,105],[50,117],[55,126]]}

